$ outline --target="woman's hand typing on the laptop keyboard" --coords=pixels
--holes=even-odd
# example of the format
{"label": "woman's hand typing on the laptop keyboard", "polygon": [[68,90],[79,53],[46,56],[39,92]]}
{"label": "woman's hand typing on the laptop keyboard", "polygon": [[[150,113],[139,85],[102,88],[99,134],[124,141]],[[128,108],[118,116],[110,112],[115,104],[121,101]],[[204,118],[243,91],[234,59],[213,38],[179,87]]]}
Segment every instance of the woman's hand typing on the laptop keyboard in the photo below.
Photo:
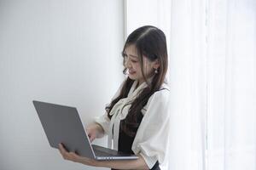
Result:
{"label": "woman's hand typing on the laptop keyboard", "polygon": [[96,138],[102,138],[104,135],[102,126],[95,122],[91,123],[88,127],[85,128],[85,130],[90,138],[90,142]]}

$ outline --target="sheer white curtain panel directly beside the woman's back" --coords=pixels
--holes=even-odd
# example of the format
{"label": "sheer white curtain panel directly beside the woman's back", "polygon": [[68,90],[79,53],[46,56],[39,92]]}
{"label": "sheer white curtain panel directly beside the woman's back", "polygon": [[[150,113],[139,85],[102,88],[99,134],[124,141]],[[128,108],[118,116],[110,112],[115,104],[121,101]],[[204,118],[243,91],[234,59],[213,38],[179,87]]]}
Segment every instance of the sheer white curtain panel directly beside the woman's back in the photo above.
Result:
{"label": "sheer white curtain panel directly beside the woman's back", "polygon": [[172,170],[203,170],[206,166],[204,7],[205,2],[201,0],[172,0],[171,4],[171,20],[168,21],[171,33],[167,38],[172,96],[169,169]]}

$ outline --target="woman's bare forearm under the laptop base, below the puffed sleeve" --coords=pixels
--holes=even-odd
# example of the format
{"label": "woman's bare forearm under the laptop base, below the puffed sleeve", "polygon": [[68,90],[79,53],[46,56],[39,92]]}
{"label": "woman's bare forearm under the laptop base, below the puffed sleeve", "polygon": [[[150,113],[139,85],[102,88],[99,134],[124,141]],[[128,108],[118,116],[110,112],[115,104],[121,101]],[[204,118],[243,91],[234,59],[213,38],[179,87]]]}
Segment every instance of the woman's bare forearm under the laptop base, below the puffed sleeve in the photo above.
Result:
{"label": "woman's bare forearm under the laptop base, below the puffed sleeve", "polygon": [[110,167],[114,169],[149,169],[142,156],[137,160],[97,161],[96,167]]}

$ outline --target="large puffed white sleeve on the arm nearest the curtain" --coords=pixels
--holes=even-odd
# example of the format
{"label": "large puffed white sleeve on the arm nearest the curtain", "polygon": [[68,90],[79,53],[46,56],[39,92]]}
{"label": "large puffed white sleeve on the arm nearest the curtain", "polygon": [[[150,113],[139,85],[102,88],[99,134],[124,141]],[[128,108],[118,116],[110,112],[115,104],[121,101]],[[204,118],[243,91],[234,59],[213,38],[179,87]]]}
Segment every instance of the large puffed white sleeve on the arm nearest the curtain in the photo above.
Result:
{"label": "large puffed white sleeve on the arm nearest the curtain", "polygon": [[170,132],[169,108],[170,91],[167,89],[155,92],[143,108],[143,120],[131,149],[143,156],[149,168],[156,161],[163,163],[166,159]]}

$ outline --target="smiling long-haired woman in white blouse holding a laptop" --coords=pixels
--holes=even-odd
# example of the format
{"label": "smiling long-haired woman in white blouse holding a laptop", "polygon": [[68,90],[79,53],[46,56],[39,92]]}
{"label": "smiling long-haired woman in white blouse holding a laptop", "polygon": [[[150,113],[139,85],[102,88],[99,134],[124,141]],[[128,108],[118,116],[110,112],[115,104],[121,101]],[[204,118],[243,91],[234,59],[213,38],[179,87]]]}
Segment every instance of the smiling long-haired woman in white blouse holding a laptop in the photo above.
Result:
{"label": "smiling long-haired woman in white blouse holding a laptop", "polygon": [[[123,49],[124,73],[128,74],[105,115],[86,128],[90,141],[108,134],[108,146],[137,160],[96,161],[67,152],[64,159],[89,166],[113,169],[160,169],[166,158],[169,135],[169,88],[165,82],[168,66],[166,37],[154,26],[133,31]],[[113,144],[112,144],[113,142]]]}

